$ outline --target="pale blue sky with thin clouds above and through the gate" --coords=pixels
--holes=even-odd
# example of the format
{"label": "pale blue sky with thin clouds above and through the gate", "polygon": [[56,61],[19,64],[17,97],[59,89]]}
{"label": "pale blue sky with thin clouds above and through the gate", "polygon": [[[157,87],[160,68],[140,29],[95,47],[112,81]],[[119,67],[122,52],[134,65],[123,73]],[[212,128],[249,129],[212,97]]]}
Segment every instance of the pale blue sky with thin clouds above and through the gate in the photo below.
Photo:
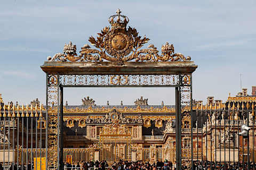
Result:
{"label": "pale blue sky with thin clouds above and through the gate", "polygon": [[[148,44],[161,49],[173,44],[176,53],[191,56],[193,98],[227,100],[242,88],[256,86],[256,1],[39,1],[0,2],[0,94],[5,103],[45,104],[47,56],[62,52],[72,41],[77,51],[88,38],[109,25],[117,8],[129,17],[128,25]],[[147,45],[146,45],[147,46]],[[146,47],[145,46],[145,47]],[[90,96],[97,105],[133,105],[148,98],[149,105],[174,104],[172,88],[69,88],[64,100],[81,105]]]}

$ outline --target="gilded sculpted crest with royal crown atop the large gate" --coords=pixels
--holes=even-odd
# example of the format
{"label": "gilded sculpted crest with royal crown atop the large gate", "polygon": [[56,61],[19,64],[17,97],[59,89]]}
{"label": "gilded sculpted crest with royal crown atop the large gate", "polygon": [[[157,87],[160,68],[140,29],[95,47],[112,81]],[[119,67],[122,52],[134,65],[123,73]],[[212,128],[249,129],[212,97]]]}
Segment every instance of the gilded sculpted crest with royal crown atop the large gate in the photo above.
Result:
{"label": "gilded sculpted crest with royal crown atop the large gate", "polygon": [[48,61],[61,62],[102,62],[113,61],[123,63],[126,61],[190,61],[190,56],[185,57],[181,53],[174,53],[172,44],[166,43],[162,46],[162,53],[159,55],[157,48],[150,44],[147,48],[141,49],[148,43],[149,38],[141,37],[135,28],[126,27],[129,18],[121,15],[118,9],[115,15],[108,19],[111,27],[105,27],[98,33],[98,37],[89,38],[89,42],[97,49],[84,45],[80,54],[76,53],[76,45],[71,42],[65,44],[63,53],[57,53],[53,57],[47,57]]}

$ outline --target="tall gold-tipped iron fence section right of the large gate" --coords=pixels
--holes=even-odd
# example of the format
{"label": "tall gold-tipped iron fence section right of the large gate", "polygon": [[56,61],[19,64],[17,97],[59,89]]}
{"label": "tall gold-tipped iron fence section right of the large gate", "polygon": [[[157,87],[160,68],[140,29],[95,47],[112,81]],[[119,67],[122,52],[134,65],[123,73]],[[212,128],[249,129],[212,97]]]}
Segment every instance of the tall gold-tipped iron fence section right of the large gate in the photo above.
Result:
{"label": "tall gold-tipped iron fence section right of the large gate", "polygon": [[254,108],[252,101],[197,105],[193,166],[255,169]]}

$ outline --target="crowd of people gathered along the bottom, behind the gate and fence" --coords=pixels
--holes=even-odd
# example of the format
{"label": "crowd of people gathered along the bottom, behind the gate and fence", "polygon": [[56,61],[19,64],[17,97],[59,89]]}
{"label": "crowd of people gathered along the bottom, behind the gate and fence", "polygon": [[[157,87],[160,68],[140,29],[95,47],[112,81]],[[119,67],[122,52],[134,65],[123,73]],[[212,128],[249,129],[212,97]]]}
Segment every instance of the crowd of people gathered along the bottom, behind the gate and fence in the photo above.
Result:
{"label": "crowd of people gathered along the bottom, behind the gate and fence", "polygon": [[[189,161],[182,162],[181,169],[191,169],[191,170],[213,170],[213,169],[221,169],[221,170],[240,170],[240,169],[247,169],[247,163],[245,162],[235,162],[235,163],[220,163],[220,162],[209,162],[209,161],[194,161],[193,162],[193,169],[191,169],[191,164]],[[249,169],[256,169],[256,164],[250,163]],[[3,165],[0,163],[0,170],[5,170],[6,167],[9,167],[9,170],[16,170],[21,169],[30,170],[31,168],[34,169],[33,164],[28,164],[28,166],[17,166],[17,164],[10,164],[10,166],[6,166],[3,168]],[[165,160],[157,161],[153,164],[149,162],[128,162],[122,161],[114,162],[113,164],[109,165],[106,161],[98,162],[83,162],[83,163],[65,163],[64,167],[66,170],[176,170],[176,163],[169,162]]]}

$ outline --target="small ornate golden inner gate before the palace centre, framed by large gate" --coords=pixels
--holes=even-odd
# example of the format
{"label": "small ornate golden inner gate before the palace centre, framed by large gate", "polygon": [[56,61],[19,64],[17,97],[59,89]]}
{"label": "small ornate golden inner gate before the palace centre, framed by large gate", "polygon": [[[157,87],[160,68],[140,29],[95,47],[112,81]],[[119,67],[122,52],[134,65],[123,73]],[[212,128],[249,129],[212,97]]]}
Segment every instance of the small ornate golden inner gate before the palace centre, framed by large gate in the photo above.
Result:
{"label": "small ornate golden inner gate before the palace centre, framed by large gate", "polygon": [[110,164],[131,160],[132,135],[124,124],[120,124],[120,114],[114,109],[110,113],[111,124],[103,126],[100,132],[100,160]]}

